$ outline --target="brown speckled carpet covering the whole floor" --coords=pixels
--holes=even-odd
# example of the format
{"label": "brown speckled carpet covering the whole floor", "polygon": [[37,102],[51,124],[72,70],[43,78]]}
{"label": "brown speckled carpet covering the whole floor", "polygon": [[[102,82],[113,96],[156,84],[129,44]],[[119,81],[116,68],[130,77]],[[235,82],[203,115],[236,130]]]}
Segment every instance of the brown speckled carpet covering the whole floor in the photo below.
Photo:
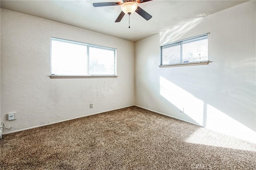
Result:
{"label": "brown speckled carpet covering the whole floor", "polygon": [[256,170],[256,144],[128,107],[3,135],[3,170]]}

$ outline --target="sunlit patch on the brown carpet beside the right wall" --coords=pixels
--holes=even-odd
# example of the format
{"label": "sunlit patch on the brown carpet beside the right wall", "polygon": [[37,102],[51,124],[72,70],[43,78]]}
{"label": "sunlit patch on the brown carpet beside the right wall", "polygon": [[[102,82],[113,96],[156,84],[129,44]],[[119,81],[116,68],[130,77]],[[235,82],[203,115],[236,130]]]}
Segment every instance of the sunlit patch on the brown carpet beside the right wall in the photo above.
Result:
{"label": "sunlit patch on the brown carpet beside the right wall", "polygon": [[256,145],[253,143],[206,128],[197,129],[185,142],[256,152]]}

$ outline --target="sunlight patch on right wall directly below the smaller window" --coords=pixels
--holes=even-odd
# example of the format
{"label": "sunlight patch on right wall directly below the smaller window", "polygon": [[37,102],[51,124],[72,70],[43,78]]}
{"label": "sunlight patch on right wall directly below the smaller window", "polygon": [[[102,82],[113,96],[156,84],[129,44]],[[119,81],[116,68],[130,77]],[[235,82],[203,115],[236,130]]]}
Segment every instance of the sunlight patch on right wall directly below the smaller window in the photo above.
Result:
{"label": "sunlight patch on right wall directly below the smaller window", "polygon": [[[204,102],[184,89],[160,76],[160,95],[191,117],[199,125],[203,125]],[[183,114],[183,113],[182,113]]]}

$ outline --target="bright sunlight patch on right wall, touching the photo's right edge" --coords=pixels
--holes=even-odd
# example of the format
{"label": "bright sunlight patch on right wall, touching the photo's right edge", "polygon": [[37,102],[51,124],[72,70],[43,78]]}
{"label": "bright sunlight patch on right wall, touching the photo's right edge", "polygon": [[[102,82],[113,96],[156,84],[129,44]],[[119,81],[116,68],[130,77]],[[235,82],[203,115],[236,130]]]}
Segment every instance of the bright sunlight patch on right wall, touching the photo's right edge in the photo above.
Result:
{"label": "bright sunlight patch on right wall, touching the photo's right edge", "polygon": [[256,132],[209,104],[206,128],[256,143]]}

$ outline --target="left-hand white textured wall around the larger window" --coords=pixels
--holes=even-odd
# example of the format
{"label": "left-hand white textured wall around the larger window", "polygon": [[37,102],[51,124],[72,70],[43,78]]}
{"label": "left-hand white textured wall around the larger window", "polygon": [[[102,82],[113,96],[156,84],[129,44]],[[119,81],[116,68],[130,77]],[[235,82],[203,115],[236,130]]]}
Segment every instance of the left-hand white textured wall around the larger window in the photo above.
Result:
{"label": "left-hand white textured wall around the larger window", "polygon": [[[51,36],[116,48],[118,78],[50,79]],[[130,105],[134,42],[1,9],[1,122],[12,127],[4,133]]]}

